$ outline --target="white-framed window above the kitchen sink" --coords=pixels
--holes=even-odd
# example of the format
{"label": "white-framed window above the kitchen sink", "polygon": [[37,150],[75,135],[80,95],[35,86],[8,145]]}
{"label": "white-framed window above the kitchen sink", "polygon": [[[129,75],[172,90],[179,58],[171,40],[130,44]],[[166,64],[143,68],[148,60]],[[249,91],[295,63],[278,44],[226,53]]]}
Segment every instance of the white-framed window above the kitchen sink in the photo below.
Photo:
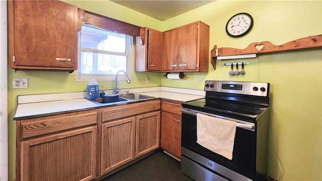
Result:
{"label": "white-framed window above the kitchen sink", "polygon": [[130,76],[132,36],[84,24],[78,34],[78,43],[76,81],[89,81],[92,78],[114,80],[119,70]]}

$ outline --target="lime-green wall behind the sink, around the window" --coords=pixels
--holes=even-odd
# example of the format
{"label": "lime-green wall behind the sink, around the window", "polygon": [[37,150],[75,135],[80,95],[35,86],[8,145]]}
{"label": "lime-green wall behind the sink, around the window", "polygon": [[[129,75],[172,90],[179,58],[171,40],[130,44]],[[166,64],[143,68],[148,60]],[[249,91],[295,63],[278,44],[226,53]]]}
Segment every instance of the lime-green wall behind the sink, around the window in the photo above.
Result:
{"label": "lime-green wall behind the sink, around the window", "polygon": [[[67,1],[65,1],[67,2]],[[79,8],[90,12],[108,16],[137,26],[154,25],[153,28],[161,30],[158,20],[141,13],[121,7],[110,1],[68,1]],[[144,23],[142,23],[144,22]],[[151,26],[150,26],[151,27]],[[145,83],[145,77],[150,77],[150,83]],[[118,88],[160,86],[162,73],[135,72],[132,69],[131,83],[119,81]],[[28,78],[27,89],[12,89],[12,78]],[[70,93],[86,91],[88,82],[75,82],[74,73],[55,71],[15,71],[8,69],[8,149],[9,149],[9,180],[14,180],[16,161],[16,122],[12,121],[17,106],[18,95],[36,95],[50,93]],[[113,89],[114,81],[98,81],[105,89]]]}

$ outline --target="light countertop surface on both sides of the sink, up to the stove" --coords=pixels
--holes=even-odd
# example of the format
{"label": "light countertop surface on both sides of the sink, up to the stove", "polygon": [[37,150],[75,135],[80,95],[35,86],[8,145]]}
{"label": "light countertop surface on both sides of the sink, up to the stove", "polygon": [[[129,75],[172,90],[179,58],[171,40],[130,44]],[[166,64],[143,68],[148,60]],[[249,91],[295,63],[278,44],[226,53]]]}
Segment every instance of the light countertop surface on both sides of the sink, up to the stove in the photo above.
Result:
{"label": "light countertop surface on both sides of the sink, up to the stove", "polygon": [[[137,93],[137,94],[166,99],[166,100],[173,100],[178,102],[187,102],[187,101],[204,98],[204,96],[200,96],[200,95],[175,93],[175,92],[169,92],[169,91],[152,91],[152,92],[144,92],[144,93]],[[134,103],[134,102],[137,102],[137,101],[130,101],[130,102],[127,102],[127,104]],[[108,107],[108,106],[114,106],[119,104],[120,103],[109,103],[108,105],[102,106],[102,105],[95,104],[85,98],[45,101],[45,102],[35,102],[35,103],[23,103],[23,104],[17,105],[14,120],[36,118],[36,117],[70,113],[70,112],[76,112],[76,111],[85,111],[85,110],[97,109],[101,107]]]}

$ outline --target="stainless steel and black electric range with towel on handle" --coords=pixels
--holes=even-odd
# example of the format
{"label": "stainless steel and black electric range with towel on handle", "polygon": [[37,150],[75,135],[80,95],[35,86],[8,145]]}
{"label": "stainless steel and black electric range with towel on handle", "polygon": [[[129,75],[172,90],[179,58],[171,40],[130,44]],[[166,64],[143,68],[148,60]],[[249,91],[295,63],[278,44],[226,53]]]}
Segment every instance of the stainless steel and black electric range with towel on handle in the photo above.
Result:
{"label": "stainless steel and black electric range with towel on handle", "polygon": [[[195,180],[261,180],[267,168],[269,86],[261,82],[207,80],[205,98],[182,104],[181,171]],[[201,137],[202,116],[206,116],[208,124],[217,124],[213,119],[219,119],[224,126],[233,125],[230,149],[225,147],[227,140],[211,141],[228,127],[207,126],[208,137]],[[202,141],[214,143],[216,149]],[[230,157],[217,150],[230,153]]]}

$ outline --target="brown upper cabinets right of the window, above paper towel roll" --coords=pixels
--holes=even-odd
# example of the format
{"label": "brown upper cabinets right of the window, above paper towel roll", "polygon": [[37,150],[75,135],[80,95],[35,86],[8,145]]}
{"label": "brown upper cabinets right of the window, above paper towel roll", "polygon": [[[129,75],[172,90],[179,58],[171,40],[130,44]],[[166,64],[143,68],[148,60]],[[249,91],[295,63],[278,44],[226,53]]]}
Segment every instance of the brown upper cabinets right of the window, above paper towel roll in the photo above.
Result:
{"label": "brown upper cabinets right of the window, above paper towel roll", "polygon": [[141,28],[135,71],[208,72],[209,26],[198,21],[166,32]]}

